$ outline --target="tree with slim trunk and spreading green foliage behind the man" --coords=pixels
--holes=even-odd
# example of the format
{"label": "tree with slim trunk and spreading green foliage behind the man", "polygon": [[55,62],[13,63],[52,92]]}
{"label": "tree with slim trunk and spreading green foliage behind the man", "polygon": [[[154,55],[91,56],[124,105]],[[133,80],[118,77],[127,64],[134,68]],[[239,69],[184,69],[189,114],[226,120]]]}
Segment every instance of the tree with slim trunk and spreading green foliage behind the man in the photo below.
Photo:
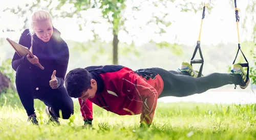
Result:
{"label": "tree with slim trunk and spreading green foliage behind the man", "polygon": [[[78,18],[86,18],[82,17],[81,12],[89,10],[89,9],[98,9],[101,10],[102,18],[105,19],[105,22],[110,24],[110,31],[113,35],[113,64],[118,64],[118,33],[120,31],[125,31],[129,34],[129,30],[127,30],[125,26],[125,22],[127,21],[127,13],[132,14],[132,19],[130,20],[138,20],[140,17],[136,17],[135,13],[138,13],[142,10],[143,6],[149,6],[151,9],[147,12],[151,14],[151,18],[146,21],[145,24],[138,25],[136,28],[139,30],[145,25],[155,25],[155,33],[159,34],[160,36],[166,33],[166,29],[168,26],[174,22],[174,20],[169,20],[170,13],[169,9],[175,7],[180,9],[181,12],[188,12],[192,11],[197,13],[198,10],[202,9],[203,4],[196,4],[192,2],[187,2],[185,0],[181,0],[180,2],[177,1],[167,1],[167,0],[160,0],[160,1],[140,1],[140,0],[77,0],[77,1],[64,1],[58,0],[58,5],[56,7],[52,6],[52,0],[49,1],[39,1],[37,0],[32,5],[26,4],[26,8],[21,8],[20,6],[6,9],[10,10],[13,13],[19,14],[20,16],[24,16],[27,14],[28,11],[33,11],[35,8],[39,8],[41,3],[45,3],[45,7],[41,7],[42,9],[46,9],[50,11],[53,17],[78,17]],[[46,4],[47,3],[47,4]],[[127,6],[127,4],[132,4],[132,7]],[[214,4],[210,2],[210,5],[213,6]],[[69,6],[71,8],[70,12],[61,10],[63,7]],[[172,7],[171,7],[172,6]],[[158,10],[154,9],[158,8]],[[61,11],[60,14],[54,14],[54,11]],[[155,10],[155,11],[154,11]],[[142,15],[141,15],[142,16]],[[26,18],[27,21],[27,18]],[[26,22],[25,21],[25,22]],[[94,23],[99,23],[99,21],[94,21]],[[80,30],[82,30],[82,25],[79,24]],[[153,30],[153,29],[152,29]],[[130,33],[131,34],[131,33]],[[132,35],[136,37],[136,35]],[[98,36],[95,35],[95,39],[98,39]],[[170,47],[176,48],[177,44],[169,45],[168,42],[164,43],[157,43],[160,47]],[[180,51],[180,50],[179,50]]]}

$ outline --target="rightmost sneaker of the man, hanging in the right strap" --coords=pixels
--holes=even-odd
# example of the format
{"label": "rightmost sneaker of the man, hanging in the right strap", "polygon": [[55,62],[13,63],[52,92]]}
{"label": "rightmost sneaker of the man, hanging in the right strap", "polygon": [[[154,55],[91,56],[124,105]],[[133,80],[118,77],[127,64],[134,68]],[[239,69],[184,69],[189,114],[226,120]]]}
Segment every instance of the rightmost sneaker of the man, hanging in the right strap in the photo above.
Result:
{"label": "rightmost sneaker of the man, hanging in the right strap", "polygon": [[249,85],[250,79],[248,79],[248,80],[246,79],[246,73],[244,72],[243,67],[239,64],[234,64],[232,66],[231,72],[234,73],[234,74],[240,74],[241,77],[242,77],[242,81],[241,81],[241,84],[239,86],[240,86],[241,89],[247,88],[247,86]]}

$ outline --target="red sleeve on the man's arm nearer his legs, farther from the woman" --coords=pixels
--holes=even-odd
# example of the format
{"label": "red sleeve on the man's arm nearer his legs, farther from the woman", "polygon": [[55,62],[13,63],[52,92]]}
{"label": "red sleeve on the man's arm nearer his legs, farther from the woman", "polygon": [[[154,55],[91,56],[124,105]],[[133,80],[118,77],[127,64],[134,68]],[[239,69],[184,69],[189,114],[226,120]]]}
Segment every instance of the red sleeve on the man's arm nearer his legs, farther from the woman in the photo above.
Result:
{"label": "red sleeve on the man's arm nearer his legs, farther from the woman", "polygon": [[158,100],[157,90],[132,70],[126,71],[120,80],[122,92],[137,96],[138,101],[143,103],[140,123],[152,124]]}

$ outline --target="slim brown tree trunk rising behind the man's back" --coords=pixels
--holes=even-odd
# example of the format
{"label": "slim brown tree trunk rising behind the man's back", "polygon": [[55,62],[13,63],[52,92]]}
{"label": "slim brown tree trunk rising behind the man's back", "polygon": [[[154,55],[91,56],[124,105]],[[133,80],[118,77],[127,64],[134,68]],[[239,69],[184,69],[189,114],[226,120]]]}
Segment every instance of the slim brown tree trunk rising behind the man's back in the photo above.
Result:
{"label": "slim brown tree trunk rising behind the man's back", "polygon": [[118,35],[115,30],[113,30],[113,64],[118,65]]}

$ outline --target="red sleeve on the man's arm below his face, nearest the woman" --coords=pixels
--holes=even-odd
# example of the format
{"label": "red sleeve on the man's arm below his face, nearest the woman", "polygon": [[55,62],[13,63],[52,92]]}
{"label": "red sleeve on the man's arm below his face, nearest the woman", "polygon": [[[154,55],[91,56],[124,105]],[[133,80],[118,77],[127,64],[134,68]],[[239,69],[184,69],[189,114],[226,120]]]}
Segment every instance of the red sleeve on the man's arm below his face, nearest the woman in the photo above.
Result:
{"label": "red sleeve on the man's arm below his face, nearest the woman", "polygon": [[83,120],[93,120],[93,103],[87,99],[86,101],[78,98],[80,104],[80,111],[83,117]]}

